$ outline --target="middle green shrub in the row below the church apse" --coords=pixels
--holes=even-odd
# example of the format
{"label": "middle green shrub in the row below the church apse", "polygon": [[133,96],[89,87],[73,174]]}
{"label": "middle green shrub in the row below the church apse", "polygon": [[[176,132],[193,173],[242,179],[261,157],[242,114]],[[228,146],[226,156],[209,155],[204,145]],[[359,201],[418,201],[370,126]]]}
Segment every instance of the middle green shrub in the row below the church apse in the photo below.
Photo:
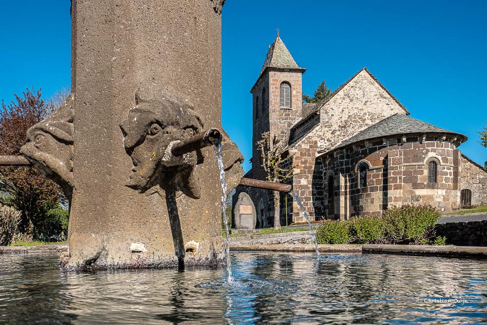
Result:
{"label": "middle green shrub in the row below the church apse", "polygon": [[384,240],[384,220],[380,216],[352,218],[350,232],[357,244],[379,244]]}

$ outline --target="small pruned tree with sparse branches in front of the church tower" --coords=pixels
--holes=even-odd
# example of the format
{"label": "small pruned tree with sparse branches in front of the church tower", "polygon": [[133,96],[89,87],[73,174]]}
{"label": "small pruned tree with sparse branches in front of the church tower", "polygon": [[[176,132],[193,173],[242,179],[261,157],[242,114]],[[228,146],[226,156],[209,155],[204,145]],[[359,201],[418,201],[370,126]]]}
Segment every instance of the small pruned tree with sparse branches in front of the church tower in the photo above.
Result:
{"label": "small pruned tree with sparse branches in front of the church tower", "polygon": [[[272,138],[269,132],[262,134],[262,140],[257,142],[261,150],[262,167],[267,173],[267,180],[270,182],[280,183],[293,175],[294,167],[282,168],[283,163],[292,159],[292,156],[284,154],[285,145],[276,135]],[[279,192],[274,191],[274,229],[281,229],[281,220],[279,218]]]}

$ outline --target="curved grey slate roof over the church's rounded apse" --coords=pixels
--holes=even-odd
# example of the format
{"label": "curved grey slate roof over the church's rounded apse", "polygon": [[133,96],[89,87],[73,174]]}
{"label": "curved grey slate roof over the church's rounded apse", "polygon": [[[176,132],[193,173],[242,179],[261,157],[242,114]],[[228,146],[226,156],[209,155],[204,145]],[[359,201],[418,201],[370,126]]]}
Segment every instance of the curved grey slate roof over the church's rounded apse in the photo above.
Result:
{"label": "curved grey slate roof over the church's rounded apse", "polygon": [[428,133],[448,133],[459,135],[463,138],[462,142],[467,141],[467,136],[445,130],[430,123],[412,118],[408,115],[394,114],[386,117],[378,123],[371,125],[367,129],[345,139],[334,148],[326,151],[331,152],[338,148],[343,148],[356,142],[365,141],[373,138],[382,138],[396,134],[428,134]]}

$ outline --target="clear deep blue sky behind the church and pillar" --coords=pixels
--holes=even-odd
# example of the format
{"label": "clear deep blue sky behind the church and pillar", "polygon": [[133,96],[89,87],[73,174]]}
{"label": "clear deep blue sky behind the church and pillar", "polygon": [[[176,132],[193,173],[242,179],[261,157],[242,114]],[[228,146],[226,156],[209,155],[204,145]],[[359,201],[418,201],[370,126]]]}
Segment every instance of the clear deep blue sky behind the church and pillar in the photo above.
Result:
{"label": "clear deep blue sky behind the church and pillar", "polygon": [[[27,86],[50,96],[70,83],[69,0],[0,4],[0,98]],[[250,88],[276,28],[307,69],[303,91],[332,89],[367,67],[411,116],[466,134],[483,165],[487,120],[487,1],[227,0],[223,9],[223,126],[251,156]]]}

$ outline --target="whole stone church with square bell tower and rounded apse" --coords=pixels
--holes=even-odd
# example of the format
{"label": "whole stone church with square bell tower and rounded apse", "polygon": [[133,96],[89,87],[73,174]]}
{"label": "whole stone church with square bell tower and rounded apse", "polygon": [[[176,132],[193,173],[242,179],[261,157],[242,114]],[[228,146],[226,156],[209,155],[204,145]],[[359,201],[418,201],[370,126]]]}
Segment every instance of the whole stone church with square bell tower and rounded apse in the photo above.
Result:
{"label": "whole stone church with square bell tower and rounded apse", "polygon": [[[253,85],[252,168],[265,180],[257,141],[276,134],[286,145],[287,181],[312,219],[349,219],[391,206],[431,204],[450,211],[487,204],[487,170],[462,154],[467,137],[410,116],[366,68],[317,104],[302,103],[302,74],[278,37]],[[274,204],[266,190],[250,195],[259,228],[272,227]],[[281,225],[302,222],[289,194],[281,193]]]}

